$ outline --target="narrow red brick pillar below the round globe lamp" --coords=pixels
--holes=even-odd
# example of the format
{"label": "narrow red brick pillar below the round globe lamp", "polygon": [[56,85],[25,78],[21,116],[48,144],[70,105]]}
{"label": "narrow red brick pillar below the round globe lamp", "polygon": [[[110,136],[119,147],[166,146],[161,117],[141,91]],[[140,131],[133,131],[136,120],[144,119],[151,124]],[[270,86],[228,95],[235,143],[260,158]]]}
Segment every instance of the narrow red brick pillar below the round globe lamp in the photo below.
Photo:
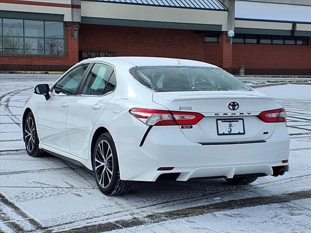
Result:
{"label": "narrow red brick pillar below the round globe lamp", "polygon": [[232,44],[228,41],[227,32],[220,33],[220,67],[232,72]]}

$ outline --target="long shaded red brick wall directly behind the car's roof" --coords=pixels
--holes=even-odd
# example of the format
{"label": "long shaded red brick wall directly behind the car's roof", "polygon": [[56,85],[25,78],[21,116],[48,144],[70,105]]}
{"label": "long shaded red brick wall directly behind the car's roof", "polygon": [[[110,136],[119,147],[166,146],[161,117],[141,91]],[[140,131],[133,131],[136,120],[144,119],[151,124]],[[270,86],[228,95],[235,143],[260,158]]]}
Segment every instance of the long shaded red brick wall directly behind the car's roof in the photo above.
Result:
{"label": "long shaded red brick wall directly behind the car's roof", "polygon": [[117,56],[173,57],[219,64],[219,43],[204,43],[191,30],[81,24],[80,50],[107,50]]}

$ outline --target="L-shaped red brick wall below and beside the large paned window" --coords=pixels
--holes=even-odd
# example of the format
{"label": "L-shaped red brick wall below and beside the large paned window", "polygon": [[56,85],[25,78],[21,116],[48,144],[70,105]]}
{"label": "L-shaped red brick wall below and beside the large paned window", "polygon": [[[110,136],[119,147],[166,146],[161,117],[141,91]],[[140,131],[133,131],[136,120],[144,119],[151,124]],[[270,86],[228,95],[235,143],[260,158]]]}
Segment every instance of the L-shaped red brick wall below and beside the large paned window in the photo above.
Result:
{"label": "L-shaped red brick wall below and beside the large paned window", "polygon": [[0,70],[66,70],[78,62],[78,38],[65,27],[65,56],[0,55]]}

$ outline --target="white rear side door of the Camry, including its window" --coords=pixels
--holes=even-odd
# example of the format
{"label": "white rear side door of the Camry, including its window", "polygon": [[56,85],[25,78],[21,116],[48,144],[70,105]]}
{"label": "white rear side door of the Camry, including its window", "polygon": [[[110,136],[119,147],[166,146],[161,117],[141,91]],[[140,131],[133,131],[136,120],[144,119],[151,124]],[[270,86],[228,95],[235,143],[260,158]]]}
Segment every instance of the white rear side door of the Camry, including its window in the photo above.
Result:
{"label": "white rear side door of the Camry, including its window", "polygon": [[70,101],[66,130],[72,155],[88,158],[90,134],[105,105],[113,97],[115,86],[113,67],[102,63],[92,65],[79,95]]}

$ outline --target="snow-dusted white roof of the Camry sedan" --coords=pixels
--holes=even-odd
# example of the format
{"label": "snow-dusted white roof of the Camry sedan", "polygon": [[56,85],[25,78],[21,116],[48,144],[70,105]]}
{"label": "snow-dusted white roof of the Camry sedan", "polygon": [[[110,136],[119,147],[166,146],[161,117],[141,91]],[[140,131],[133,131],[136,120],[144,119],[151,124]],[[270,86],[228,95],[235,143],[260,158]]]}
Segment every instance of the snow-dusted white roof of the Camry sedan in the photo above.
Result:
{"label": "snow-dusted white roof of the Camry sedan", "polygon": [[188,67],[216,67],[214,65],[177,58],[164,58],[164,57],[95,57],[81,61],[86,62],[105,62],[114,66],[127,67],[149,67],[149,66],[188,66]]}

